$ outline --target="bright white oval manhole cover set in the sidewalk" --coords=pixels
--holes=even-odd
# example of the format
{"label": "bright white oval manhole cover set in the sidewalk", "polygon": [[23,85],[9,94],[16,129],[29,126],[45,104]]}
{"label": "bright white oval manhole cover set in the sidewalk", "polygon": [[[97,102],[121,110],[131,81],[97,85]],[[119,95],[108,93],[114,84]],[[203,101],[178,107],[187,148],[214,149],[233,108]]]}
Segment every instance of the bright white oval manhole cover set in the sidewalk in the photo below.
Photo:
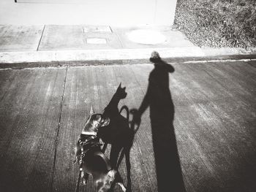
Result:
{"label": "bright white oval manhole cover set in the sidewalk", "polygon": [[166,37],[159,31],[138,29],[127,33],[127,37],[132,42],[145,45],[155,45],[166,41]]}

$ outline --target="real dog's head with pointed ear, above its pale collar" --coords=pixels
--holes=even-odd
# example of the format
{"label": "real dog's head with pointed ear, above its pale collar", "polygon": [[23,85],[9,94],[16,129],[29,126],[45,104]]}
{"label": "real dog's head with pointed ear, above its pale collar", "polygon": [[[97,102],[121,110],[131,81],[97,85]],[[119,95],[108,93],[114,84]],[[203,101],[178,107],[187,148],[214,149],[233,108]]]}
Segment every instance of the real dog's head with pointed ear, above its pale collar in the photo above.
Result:
{"label": "real dog's head with pointed ear, above its pale collar", "polygon": [[108,126],[110,123],[110,118],[103,118],[102,114],[95,113],[91,107],[90,114],[86,120],[86,124],[83,127],[83,131],[90,133],[97,133],[99,128],[102,126]]}

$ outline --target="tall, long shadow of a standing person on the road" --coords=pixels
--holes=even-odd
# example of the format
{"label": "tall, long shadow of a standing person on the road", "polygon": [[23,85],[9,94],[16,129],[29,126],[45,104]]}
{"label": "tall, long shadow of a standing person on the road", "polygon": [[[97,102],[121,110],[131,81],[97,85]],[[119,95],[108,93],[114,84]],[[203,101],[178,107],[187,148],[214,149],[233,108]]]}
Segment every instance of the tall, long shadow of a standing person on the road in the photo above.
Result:
{"label": "tall, long shadow of a standing person on the road", "polygon": [[148,89],[135,121],[140,123],[143,112],[150,108],[158,191],[185,191],[173,127],[174,104],[169,89],[169,73],[174,72],[174,68],[162,61],[157,52],[152,55],[150,61],[154,63],[154,69],[149,74]]}

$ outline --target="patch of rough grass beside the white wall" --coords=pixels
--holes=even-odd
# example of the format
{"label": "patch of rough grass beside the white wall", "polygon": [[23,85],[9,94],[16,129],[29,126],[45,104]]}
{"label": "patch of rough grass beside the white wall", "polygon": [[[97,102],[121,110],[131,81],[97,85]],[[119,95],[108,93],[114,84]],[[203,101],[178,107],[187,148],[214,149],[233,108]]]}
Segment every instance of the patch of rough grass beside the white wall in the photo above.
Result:
{"label": "patch of rough grass beside the white wall", "polygon": [[256,1],[178,0],[174,27],[200,47],[256,47]]}

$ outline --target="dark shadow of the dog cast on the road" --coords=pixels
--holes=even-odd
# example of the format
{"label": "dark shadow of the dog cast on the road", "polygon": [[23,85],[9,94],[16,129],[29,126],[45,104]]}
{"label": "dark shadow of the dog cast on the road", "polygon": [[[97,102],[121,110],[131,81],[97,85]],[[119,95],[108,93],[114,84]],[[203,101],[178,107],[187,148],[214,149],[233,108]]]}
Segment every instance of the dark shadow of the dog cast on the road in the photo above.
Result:
{"label": "dark shadow of the dog cast on the road", "polygon": [[[127,96],[125,89],[125,87],[121,88],[120,83],[116,93],[113,94],[112,99],[102,113],[103,117],[110,118],[110,123],[108,126],[100,128],[97,135],[102,139],[103,142],[105,142],[105,145],[102,148],[103,153],[105,153],[107,145],[111,145],[110,164],[113,168],[118,169],[122,158],[125,156],[127,167],[127,191],[130,191],[131,163],[129,160],[129,153],[135,136],[135,128],[134,126],[130,126],[131,123],[129,122],[129,108],[124,105],[120,110],[118,110],[119,101],[121,99],[125,99]],[[126,111],[127,117],[121,115],[123,110]]]}

